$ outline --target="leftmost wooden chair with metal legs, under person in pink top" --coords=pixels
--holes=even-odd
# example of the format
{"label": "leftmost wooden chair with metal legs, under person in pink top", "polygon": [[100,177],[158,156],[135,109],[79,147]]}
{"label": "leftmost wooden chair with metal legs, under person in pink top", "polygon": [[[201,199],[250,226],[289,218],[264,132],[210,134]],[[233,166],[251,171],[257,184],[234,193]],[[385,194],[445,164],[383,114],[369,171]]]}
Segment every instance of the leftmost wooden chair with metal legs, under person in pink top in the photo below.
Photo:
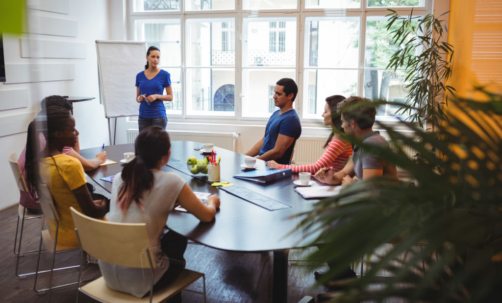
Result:
{"label": "leftmost wooden chair with metal legs, under person in pink top", "polygon": [[[18,189],[20,191],[25,192],[25,203],[24,203],[25,205],[22,206],[20,204],[18,206],[18,223],[16,225],[16,235],[14,237],[14,254],[17,255],[17,257],[16,257],[16,275],[18,277],[23,277],[23,276],[32,275],[35,272],[28,272],[28,273],[21,273],[21,274],[18,273],[19,257],[23,256],[25,253],[31,253],[31,252],[38,251],[37,249],[21,251],[21,242],[23,240],[23,230],[24,230],[24,226],[25,226],[25,220],[42,218],[44,215],[34,214],[34,213],[29,212],[26,209],[26,197],[27,197],[27,195],[29,195],[28,187],[26,186],[25,178],[23,178],[21,168],[19,167],[18,155],[16,155],[15,151],[9,156],[9,164],[11,165],[11,170],[14,175],[14,180],[16,180],[16,183],[18,185]],[[21,219],[21,230],[19,230],[20,219]],[[19,244],[18,244],[18,231],[19,231]],[[16,250],[16,246],[18,247],[17,250]]]}

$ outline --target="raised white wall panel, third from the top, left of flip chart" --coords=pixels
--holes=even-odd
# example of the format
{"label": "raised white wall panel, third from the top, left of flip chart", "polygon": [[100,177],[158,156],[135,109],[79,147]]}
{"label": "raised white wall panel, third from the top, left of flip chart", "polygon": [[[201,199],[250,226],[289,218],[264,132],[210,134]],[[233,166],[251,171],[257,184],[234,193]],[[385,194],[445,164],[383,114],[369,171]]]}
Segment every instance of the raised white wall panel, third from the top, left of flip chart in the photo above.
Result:
{"label": "raised white wall panel, third from the top, left of flip chart", "polygon": [[23,58],[78,58],[85,59],[85,43],[51,40],[19,39]]}

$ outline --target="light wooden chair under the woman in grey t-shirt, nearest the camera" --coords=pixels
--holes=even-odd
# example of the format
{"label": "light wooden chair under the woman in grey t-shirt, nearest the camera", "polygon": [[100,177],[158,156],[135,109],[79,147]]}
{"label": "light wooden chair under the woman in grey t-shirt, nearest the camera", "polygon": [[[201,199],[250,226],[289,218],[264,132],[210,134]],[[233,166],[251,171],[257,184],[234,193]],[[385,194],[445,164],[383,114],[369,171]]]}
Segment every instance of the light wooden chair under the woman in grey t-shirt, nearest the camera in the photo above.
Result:
{"label": "light wooden chair under the woman in grey t-shirt, nearest the camera", "polygon": [[101,302],[160,302],[172,297],[202,277],[204,302],[206,301],[205,275],[189,269],[183,269],[178,279],[154,293],[153,271],[155,262],[145,223],[107,222],[83,215],[73,207],[70,207],[70,210],[82,254],[85,251],[107,263],[145,268],[145,270],[150,269],[152,272],[150,297],[146,296],[139,299],[128,293],[112,290],[106,286],[103,277],[84,286],[80,286],[79,277],[79,291]]}

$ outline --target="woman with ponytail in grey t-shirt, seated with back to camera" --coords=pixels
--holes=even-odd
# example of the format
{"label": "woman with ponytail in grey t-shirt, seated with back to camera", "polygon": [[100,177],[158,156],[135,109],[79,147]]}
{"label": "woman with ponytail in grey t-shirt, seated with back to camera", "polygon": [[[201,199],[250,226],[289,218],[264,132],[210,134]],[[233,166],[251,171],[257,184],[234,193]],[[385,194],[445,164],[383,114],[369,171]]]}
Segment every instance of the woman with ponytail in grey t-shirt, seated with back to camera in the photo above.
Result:
{"label": "woman with ponytail in grey t-shirt, seated with back to camera", "polygon": [[[204,205],[184,179],[161,170],[171,155],[171,142],[164,128],[150,126],[141,131],[135,141],[135,154],[136,157],[113,179],[110,212],[106,219],[110,222],[146,223],[156,262],[154,283],[166,285],[174,281],[185,267],[183,254],[187,239],[172,231],[164,233],[175,204],[179,203],[200,221],[209,222],[214,219],[220,202],[218,196],[212,195]],[[99,268],[111,289],[139,298],[150,291],[150,270],[103,261],[99,261]],[[176,299],[180,298],[181,294]]]}

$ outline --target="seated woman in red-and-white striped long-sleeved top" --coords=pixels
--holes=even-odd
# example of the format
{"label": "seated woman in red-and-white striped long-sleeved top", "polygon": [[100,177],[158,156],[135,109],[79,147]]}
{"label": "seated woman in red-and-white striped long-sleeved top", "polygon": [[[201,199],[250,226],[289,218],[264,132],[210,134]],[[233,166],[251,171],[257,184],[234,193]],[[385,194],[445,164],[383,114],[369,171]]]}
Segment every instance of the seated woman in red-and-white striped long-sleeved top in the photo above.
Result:
{"label": "seated woman in red-and-white striped long-sleeved top", "polygon": [[[336,128],[343,131],[341,128],[342,121],[340,116],[336,116],[334,119],[331,119],[331,113],[336,112],[336,105],[344,99],[345,97],[340,95],[334,95],[326,98],[326,105],[324,106],[324,113],[322,114],[325,125],[330,125],[333,129]],[[338,172],[345,166],[348,159],[352,155],[352,145],[341,139],[338,135],[335,135],[334,131],[331,131],[324,147],[326,147],[324,154],[314,164],[294,166],[277,164],[275,161],[268,161],[267,167],[269,169],[291,169],[293,173],[297,174],[302,172],[315,174],[323,167],[329,167],[333,170],[333,172]]]}

